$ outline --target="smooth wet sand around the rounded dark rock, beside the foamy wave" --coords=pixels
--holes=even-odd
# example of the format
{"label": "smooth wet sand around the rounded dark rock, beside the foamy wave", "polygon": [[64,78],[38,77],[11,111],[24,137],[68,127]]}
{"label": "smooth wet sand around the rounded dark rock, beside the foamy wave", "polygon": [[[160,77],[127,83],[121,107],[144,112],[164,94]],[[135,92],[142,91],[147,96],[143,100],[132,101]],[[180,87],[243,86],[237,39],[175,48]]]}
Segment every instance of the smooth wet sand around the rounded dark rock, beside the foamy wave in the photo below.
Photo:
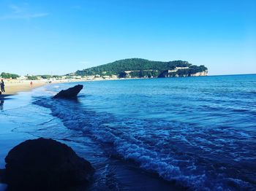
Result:
{"label": "smooth wet sand around the rounded dark rock, beside the foamy wave", "polygon": [[[47,84],[45,84],[47,85]],[[64,139],[64,137],[59,136],[58,133],[53,133],[52,130],[57,130],[60,135],[62,134],[61,132],[66,132],[66,126],[64,126],[63,122],[59,123],[59,120],[56,120],[53,124],[54,126],[50,126],[50,124],[45,123],[48,122],[49,119],[52,117],[51,112],[45,112],[43,114],[43,117],[41,116],[41,112],[44,110],[38,110],[34,111],[31,110],[32,107],[28,107],[27,104],[30,102],[27,97],[29,97],[31,94],[29,92],[27,93],[21,93],[18,95],[15,95],[16,98],[13,99],[7,99],[7,101],[4,103],[9,105],[8,108],[3,111],[2,115],[0,114],[0,123],[1,123],[1,130],[0,130],[0,168],[4,169],[5,168],[5,160],[4,158],[7,156],[8,152],[10,150],[20,144],[23,141],[29,140],[29,139],[38,139],[39,137],[44,137],[45,139],[54,139],[57,141],[61,141],[64,144],[67,144],[69,147],[72,147],[76,153],[80,155],[80,157],[85,158],[86,160],[89,160],[91,164],[94,165],[94,168],[96,168],[96,177],[95,179],[92,180],[91,182],[91,188],[92,190],[97,190],[97,188],[102,188],[102,190],[107,190],[108,185],[105,186],[99,184],[97,180],[99,177],[101,177],[101,174],[106,173],[105,168],[102,167],[102,163],[97,163],[97,160],[100,161],[107,161],[108,156],[105,157],[103,155],[104,152],[99,149],[99,147],[91,146],[91,141],[90,139],[84,139],[83,141],[70,141],[69,139]],[[27,104],[26,104],[27,103]],[[11,106],[10,106],[11,105]],[[26,110],[26,108],[29,108]],[[41,108],[41,106],[40,106]],[[26,111],[26,112],[23,112]],[[34,111],[34,112],[33,112]],[[0,111],[1,112],[1,111]],[[6,118],[7,119],[4,120]],[[33,117],[31,117],[31,114]],[[50,117],[50,118],[49,118]],[[29,125],[18,125],[19,122],[24,122],[24,124],[29,124]],[[53,125],[52,124],[52,125]],[[47,127],[47,128],[45,128]],[[42,130],[45,128],[45,130]],[[47,130],[47,131],[46,131]],[[86,144],[88,143],[88,144]],[[102,154],[97,154],[97,160],[94,159],[95,157],[95,152],[99,152]],[[98,164],[98,165],[97,165]],[[121,174],[123,175],[124,178],[118,176],[118,182],[121,182],[121,185],[128,185],[125,187],[128,187],[129,190],[133,190],[134,187],[142,187],[140,184],[140,181],[143,180],[144,182],[147,182],[147,184],[143,187],[145,189],[149,189],[150,187],[160,187],[162,190],[178,190],[176,188],[176,185],[171,184],[170,182],[165,181],[164,179],[159,179],[157,174],[145,174],[143,171],[140,170],[131,170],[129,168],[129,165],[127,165],[126,162],[118,161],[116,162],[116,159],[111,160],[111,162],[104,162],[104,165],[109,165],[110,167],[108,169],[115,169],[116,174]],[[134,167],[135,168],[135,167]],[[134,169],[132,168],[132,169]],[[136,168],[139,169],[139,168]],[[112,170],[111,170],[112,171]],[[105,177],[105,176],[103,176]],[[112,179],[111,179],[112,180]],[[129,183],[132,182],[132,185]],[[151,183],[153,182],[153,183]],[[93,189],[96,188],[96,189]],[[1,183],[0,182],[0,190],[5,190],[7,189],[7,184]],[[99,189],[98,189],[99,190]]]}

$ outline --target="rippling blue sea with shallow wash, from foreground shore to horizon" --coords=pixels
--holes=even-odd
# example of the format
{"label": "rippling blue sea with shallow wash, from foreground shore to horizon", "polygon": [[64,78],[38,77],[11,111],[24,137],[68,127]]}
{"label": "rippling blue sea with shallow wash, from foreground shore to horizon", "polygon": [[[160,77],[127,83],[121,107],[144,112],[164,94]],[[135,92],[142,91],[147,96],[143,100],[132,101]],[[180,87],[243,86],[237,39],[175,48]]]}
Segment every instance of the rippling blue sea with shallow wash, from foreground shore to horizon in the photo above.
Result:
{"label": "rippling blue sea with shallow wash, from foreground shore to horizon", "polygon": [[[77,84],[77,100],[52,99]],[[89,160],[89,190],[256,190],[256,74],[49,84],[0,109],[12,135]]]}

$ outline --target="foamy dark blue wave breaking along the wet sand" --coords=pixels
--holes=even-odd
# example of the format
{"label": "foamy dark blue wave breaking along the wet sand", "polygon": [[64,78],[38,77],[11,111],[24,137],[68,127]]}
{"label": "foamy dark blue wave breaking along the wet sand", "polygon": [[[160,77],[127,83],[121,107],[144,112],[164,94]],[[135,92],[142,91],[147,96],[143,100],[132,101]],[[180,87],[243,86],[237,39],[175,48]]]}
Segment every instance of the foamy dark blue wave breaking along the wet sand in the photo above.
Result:
{"label": "foamy dark blue wave breaking along the wet sand", "polygon": [[[140,165],[140,168],[157,173],[162,179],[176,182],[176,184],[188,187],[190,190],[244,190],[254,187],[250,182],[227,176],[224,171],[219,174],[214,173],[216,169],[210,165],[217,166],[217,163],[212,159],[207,161],[206,157],[193,155],[195,153],[188,155],[186,152],[179,153],[178,150],[173,150],[175,147],[184,147],[189,151],[194,148],[195,141],[216,147],[213,141],[199,139],[200,136],[194,142],[186,136],[182,136],[182,126],[186,130],[190,128],[191,131],[195,131],[194,128],[188,127],[186,124],[163,122],[160,124],[162,126],[160,132],[159,126],[154,125],[157,121],[116,119],[112,114],[87,109],[79,101],[37,98],[34,104],[49,108],[53,116],[59,117],[67,128],[82,130],[85,135],[102,144],[102,147],[108,147],[110,155],[118,155],[121,159],[132,160]],[[169,131],[165,132],[165,125],[168,126],[167,128],[176,128],[179,133],[168,134]],[[170,125],[172,126],[170,127]],[[131,130],[138,131],[140,134],[132,133]],[[197,133],[199,131],[198,129]],[[146,139],[143,136],[146,133],[151,135],[152,139]],[[159,133],[158,136],[163,138],[161,144],[157,142],[159,139],[154,139],[156,133]],[[167,136],[176,139],[170,141],[166,139]],[[173,148],[164,147],[169,144],[170,146],[173,144]],[[201,146],[200,149],[203,153],[209,147]],[[223,164],[219,165],[221,166],[219,168],[227,168]]]}

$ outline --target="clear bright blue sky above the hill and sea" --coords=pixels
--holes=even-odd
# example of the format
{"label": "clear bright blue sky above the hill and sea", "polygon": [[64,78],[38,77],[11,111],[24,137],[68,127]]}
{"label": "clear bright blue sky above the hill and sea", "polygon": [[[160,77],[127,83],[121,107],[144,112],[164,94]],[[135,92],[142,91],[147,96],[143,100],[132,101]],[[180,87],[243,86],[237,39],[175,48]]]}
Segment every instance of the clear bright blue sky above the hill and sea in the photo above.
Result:
{"label": "clear bright blue sky above the hill and sea", "polygon": [[124,58],[256,73],[255,0],[1,0],[0,71],[67,74]]}

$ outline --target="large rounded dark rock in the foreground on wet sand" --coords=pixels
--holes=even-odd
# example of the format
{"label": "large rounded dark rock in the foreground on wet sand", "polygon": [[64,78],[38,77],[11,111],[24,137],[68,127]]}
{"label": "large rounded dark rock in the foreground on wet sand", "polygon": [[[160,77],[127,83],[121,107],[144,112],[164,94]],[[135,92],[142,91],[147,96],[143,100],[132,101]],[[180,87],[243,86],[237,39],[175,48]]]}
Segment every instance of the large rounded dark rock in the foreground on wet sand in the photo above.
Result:
{"label": "large rounded dark rock in the foreground on wet sand", "polygon": [[5,182],[10,190],[64,190],[88,186],[94,172],[66,144],[53,139],[27,140],[5,157]]}

